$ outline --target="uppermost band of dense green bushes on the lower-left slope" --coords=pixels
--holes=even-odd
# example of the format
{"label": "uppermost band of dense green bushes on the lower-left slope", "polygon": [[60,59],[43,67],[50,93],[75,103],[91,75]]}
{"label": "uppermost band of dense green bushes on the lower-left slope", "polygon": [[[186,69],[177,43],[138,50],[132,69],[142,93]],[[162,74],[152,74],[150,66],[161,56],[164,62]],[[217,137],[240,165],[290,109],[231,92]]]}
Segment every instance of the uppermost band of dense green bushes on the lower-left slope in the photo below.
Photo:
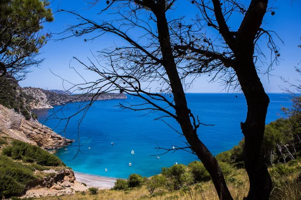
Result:
{"label": "uppermost band of dense green bushes on the lower-left slope", "polygon": [[43,166],[61,166],[64,163],[55,155],[38,146],[28,144],[20,140],[14,140],[12,146],[4,148],[4,155],[13,159],[22,159],[25,162],[34,162]]}

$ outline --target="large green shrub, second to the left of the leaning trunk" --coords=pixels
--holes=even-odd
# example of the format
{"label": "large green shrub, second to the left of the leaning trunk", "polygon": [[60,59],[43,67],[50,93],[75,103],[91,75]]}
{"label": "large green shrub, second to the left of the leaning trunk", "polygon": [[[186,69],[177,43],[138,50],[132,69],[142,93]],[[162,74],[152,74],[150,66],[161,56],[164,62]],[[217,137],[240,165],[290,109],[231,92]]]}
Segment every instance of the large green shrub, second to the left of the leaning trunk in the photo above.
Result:
{"label": "large green shrub, second to the left of the leaning trunk", "polygon": [[175,164],[168,168],[163,167],[162,174],[166,178],[166,186],[169,190],[178,190],[193,180],[192,174],[186,171],[184,164]]}

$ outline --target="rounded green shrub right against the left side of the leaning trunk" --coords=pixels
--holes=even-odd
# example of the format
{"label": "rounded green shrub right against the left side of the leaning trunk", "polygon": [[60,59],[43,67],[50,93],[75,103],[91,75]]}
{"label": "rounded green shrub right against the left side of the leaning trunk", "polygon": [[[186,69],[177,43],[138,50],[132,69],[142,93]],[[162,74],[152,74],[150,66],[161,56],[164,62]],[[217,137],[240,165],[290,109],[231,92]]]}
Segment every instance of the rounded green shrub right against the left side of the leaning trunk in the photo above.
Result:
{"label": "rounded green shrub right against the left side of the leaning trunk", "polygon": [[200,161],[193,161],[188,164],[189,171],[192,173],[195,182],[207,181],[211,179],[209,172]]}

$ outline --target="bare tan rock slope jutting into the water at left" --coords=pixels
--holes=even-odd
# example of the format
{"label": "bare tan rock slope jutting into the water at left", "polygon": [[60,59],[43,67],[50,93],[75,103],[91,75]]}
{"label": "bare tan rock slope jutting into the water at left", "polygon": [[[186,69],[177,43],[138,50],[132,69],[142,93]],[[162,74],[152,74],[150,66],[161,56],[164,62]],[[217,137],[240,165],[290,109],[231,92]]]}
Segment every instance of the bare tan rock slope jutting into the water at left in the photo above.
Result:
{"label": "bare tan rock slope jutting into the water at left", "polygon": [[38,121],[26,120],[23,115],[0,104],[0,130],[14,139],[38,145],[45,149],[58,149],[69,145],[67,139]]}

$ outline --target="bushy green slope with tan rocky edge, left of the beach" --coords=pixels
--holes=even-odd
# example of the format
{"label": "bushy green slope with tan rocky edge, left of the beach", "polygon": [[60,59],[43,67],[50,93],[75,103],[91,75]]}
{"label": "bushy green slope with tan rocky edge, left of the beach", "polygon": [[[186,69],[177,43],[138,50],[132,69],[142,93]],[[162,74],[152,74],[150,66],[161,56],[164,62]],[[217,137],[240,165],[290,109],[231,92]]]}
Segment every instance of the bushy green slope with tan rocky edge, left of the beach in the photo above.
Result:
{"label": "bushy green slope with tan rocky edge, left of the beach", "polygon": [[70,194],[87,187],[57,156],[0,131],[0,198]]}

